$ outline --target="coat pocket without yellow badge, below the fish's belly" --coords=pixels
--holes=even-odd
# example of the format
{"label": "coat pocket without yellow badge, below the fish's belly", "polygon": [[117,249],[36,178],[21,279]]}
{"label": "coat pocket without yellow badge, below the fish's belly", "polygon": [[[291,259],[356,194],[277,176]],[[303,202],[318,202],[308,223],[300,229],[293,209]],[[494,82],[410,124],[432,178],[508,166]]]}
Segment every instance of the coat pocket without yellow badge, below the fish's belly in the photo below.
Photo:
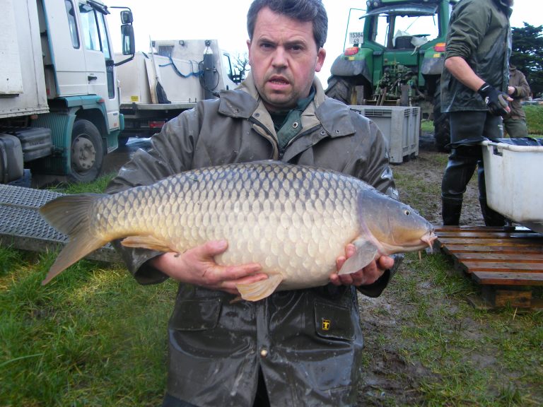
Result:
{"label": "coat pocket without yellow badge, below the fish's belly", "polygon": [[170,318],[170,329],[175,331],[204,331],[214,329],[221,314],[221,300],[181,300]]}

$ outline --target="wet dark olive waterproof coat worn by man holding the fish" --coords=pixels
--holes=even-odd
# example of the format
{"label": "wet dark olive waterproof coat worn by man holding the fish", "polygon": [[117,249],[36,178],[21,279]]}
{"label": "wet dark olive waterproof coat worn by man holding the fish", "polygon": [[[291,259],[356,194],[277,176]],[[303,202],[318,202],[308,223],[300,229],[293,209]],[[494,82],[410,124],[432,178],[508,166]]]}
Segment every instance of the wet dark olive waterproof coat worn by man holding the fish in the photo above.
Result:
{"label": "wet dark olive waterproof coat worn by man holding the fish", "polygon": [[[325,98],[317,79],[314,86],[302,131],[284,151],[247,78],[239,89],[168,122],[151,138],[150,151],[137,151],[122,167],[108,192],[197,167],[273,159],[346,172],[397,196],[378,127]],[[146,263],[158,252],[120,250],[137,281],[165,280]],[[390,275],[361,293],[380,295]],[[363,339],[354,288],[329,284],[258,302],[231,300],[221,291],[180,284],[168,326],[168,393],[196,406],[252,406],[261,369],[272,406],[356,405]]]}

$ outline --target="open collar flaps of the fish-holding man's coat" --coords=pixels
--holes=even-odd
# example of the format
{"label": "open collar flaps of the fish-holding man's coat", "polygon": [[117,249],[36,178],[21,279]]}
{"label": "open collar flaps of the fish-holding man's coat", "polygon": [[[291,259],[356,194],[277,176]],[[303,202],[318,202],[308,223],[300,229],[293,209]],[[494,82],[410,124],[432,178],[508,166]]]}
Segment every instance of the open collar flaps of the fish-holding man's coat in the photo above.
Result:
{"label": "open collar flaps of the fish-holding man's coat", "polygon": [[[354,126],[349,119],[349,107],[328,98],[319,79],[313,79],[315,98],[302,113],[303,131],[319,124],[329,136],[339,137],[354,134]],[[241,119],[255,118],[267,130],[275,135],[274,125],[269,112],[264,107],[251,74],[235,90],[223,90],[218,108],[220,114]]]}

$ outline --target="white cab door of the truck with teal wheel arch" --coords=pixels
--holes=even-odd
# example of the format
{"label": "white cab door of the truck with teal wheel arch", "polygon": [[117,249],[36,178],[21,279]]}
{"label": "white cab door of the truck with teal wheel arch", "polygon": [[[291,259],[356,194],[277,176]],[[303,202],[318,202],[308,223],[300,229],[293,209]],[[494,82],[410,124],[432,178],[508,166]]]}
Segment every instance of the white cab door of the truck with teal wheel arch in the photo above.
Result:
{"label": "white cab door of the truck with teal wheel arch", "polygon": [[115,61],[105,20],[107,8],[94,1],[79,2],[81,37],[89,95],[105,101],[109,129],[119,128],[119,97],[115,86]]}

